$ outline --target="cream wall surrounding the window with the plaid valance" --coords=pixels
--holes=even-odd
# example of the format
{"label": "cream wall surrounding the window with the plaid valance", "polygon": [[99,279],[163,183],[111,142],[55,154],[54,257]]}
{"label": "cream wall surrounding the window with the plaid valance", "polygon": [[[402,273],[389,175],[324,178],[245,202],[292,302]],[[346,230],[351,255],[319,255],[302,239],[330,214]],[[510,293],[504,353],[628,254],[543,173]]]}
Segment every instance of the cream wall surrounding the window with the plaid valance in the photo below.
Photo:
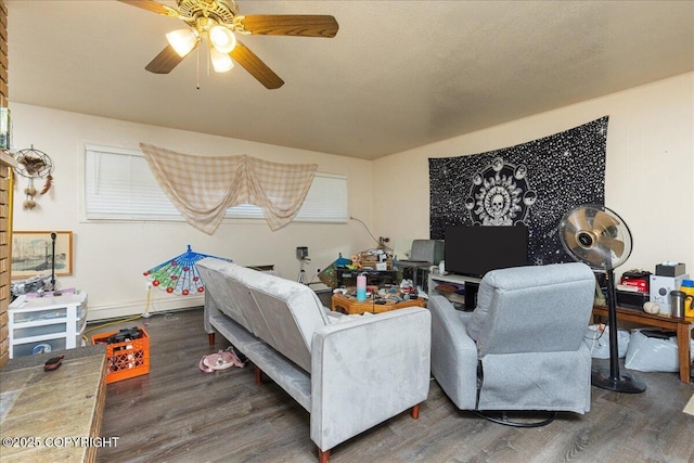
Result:
{"label": "cream wall surrounding the window with the plaid valance", "polygon": [[[13,145],[34,145],[53,160],[54,184],[46,196],[37,196],[37,207],[23,209],[27,180],[15,184],[14,230],[72,230],[74,274],[57,279],[59,287],[88,292],[89,319],[142,313],[146,288],[142,272],[185,252],[193,250],[232,258],[242,265],[274,263],[287,278],[298,276],[296,247],[308,246],[310,276],[325,268],[338,253],[375,246],[363,227],[347,224],[291,223],[272,232],[264,221],[222,223],[207,235],[185,222],[180,223],[89,223],[82,219],[80,188],[83,144],[137,149],[140,142],[181,153],[204,155],[247,154],[278,163],[316,163],[321,172],[344,173],[348,179],[351,216],[370,224],[370,162],[322,153],[293,150],[202,133],[106,119],[44,107],[11,104]],[[43,182],[36,184],[40,191]],[[318,281],[318,280],[316,280]],[[202,305],[202,297],[171,296],[153,291],[155,310]]]}

